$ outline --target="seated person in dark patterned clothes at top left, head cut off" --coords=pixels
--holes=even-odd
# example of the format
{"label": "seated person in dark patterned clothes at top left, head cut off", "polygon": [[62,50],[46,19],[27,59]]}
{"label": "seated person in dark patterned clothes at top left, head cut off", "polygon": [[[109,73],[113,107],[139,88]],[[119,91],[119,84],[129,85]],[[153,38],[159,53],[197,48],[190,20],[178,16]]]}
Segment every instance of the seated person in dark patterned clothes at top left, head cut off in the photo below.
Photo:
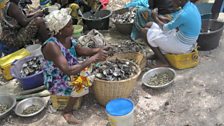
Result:
{"label": "seated person in dark patterned clothes at top left, head cut off", "polygon": [[1,44],[9,49],[17,50],[32,39],[44,42],[49,38],[49,32],[44,23],[42,11],[34,15],[24,14],[19,6],[20,0],[10,0],[3,8],[1,17],[2,36]]}

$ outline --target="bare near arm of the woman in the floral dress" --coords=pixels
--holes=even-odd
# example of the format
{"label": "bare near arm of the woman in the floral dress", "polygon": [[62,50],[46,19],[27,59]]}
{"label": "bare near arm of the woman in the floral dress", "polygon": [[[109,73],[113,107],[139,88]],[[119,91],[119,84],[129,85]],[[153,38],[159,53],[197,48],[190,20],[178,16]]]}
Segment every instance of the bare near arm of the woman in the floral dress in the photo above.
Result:
{"label": "bare near arm of the woman in the floral dress", "polygon": [[101,51],[82,63],[69,66],[66,58],[61,53],[59,47],[53,42],[48,43],[44,46],[43,54],[47,60],[53,61],[55,66],[57,66],[63,73],[67,75],[78,74],[91,63],[106,59],[106,54]]}

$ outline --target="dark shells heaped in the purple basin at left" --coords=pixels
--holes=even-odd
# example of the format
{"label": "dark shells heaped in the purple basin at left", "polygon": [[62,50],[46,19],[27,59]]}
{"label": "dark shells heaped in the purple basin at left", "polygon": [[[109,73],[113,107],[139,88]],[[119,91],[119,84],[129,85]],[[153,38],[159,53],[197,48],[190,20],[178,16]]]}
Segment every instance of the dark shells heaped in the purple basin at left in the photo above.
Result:
{"label": "dark shells heaped in the purple basin at left", "polygon": [[42,71],[42,65],[41,63],[43,62],[43,57],[38,56],[34,57],[33,59],[25,62],[22,65],[22,69],[20,71],[21,77],[26,77],[30,76],[33,74],[37,74]]}

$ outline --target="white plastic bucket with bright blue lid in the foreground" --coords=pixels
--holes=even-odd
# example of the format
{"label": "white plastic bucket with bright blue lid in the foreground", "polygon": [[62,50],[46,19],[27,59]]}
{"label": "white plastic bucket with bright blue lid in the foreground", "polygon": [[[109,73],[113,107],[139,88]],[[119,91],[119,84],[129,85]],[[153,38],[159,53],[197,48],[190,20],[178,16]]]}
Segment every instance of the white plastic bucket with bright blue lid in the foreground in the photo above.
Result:
{"label": "white plastic bucket with bright blue lid in the foreground", "polygon": [[134,103],[126,98],[111,100],[106,105],[111,126],[134,126]]}

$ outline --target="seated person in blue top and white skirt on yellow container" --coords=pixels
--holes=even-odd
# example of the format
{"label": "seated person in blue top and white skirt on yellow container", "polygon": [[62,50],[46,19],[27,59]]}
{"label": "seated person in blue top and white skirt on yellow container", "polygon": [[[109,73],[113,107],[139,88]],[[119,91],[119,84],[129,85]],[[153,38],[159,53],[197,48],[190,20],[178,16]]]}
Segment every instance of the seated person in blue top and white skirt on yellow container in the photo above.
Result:
{"label": "seated person in blue top and white skirt on yellow container", "polygon": [[201,30],[201,15],[197,7],[189,0],[173,0],[173,2],[177,8],[182,9],[173,14],[174,17],[170,22],[162,21],[154,9],[152,17],[156,23],[149,22],[142,28],[155,56],[167,65],[163,54],[191,52],[195,48]]}

